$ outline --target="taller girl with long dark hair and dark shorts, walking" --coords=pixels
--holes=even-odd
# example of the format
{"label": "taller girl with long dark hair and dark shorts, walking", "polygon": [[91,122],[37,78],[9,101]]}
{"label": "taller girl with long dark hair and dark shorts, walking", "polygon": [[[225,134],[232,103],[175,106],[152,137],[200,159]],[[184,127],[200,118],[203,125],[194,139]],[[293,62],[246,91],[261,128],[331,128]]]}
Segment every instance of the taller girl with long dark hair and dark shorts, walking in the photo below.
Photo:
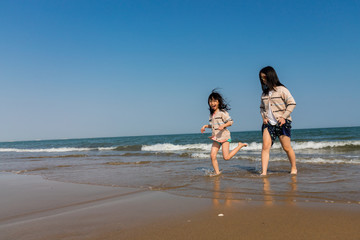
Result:
{"label": "taller girl with long dark hair and dark shorts, walking", "polygon": [[290,91],[279,81],[275,69],[268,66],[260,70],[259,78],[262,88],[260,113],[263,118],[262,135],[263,147],[261,151],[262,176],[267,175],[270,148],[276,137],[286,152],[290,164],[291,174],[297,174],[295,152],[291,147],[291,116],[296,102]]}

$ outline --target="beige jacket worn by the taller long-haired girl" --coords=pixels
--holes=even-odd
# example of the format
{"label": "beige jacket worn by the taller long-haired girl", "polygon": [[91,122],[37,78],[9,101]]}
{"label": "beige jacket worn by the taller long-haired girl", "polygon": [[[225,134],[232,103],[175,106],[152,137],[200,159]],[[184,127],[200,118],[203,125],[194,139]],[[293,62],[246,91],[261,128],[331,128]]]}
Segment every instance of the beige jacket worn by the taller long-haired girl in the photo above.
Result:
{"label": "beige jacket worn by the taller long-haired girl", "polygon": [[295,107],[295,99],[286,87],[276,87],[271,96],[261,95],[260,113],[263,119],[267,118],[269,108],[271,108],[276,120],[284,118],[292,121],[290,113]]}

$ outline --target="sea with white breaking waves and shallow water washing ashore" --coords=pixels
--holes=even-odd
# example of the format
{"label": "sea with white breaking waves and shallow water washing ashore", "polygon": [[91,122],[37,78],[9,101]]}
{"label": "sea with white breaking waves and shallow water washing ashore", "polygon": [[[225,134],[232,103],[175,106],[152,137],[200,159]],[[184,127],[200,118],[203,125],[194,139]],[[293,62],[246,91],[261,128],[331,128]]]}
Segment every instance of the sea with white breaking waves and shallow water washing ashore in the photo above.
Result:
{"label": "sea with white breaking waves and shallow water washing ashore", "polygon": [[279,141],[260,177],[261,131],[232,132],[230,161],[210,177],[209,133],[0,143],[0,173],[113,187],[145,188],[218,200],[360,204],[360,127],[294,129],[298,175]]}

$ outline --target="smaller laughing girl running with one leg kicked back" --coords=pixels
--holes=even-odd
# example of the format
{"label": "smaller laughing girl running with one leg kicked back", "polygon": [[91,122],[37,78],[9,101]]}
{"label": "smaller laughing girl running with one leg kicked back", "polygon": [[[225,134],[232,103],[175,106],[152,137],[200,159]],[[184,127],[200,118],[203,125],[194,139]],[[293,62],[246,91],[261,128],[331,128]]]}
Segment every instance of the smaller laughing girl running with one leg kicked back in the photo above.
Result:
{"label": "smaller laughing girl running with one leg kicked back", "polygon": [[227,127],[230,127],[233,124],[233,120],[227,112],[230,110],[230,107],[215,89],[208,98],[208,104],[210,110],[210,124],[204,125],[201,128],[201,133],[205,132],[205,128],[212,129],[212,136],[210,137],[210,139],[213,140],[210,153],[211,162],[214,167],[214,174],[212,176],[217,176],[221,173],[216,159],[220,147],[222,146],[224,160],[230,160],[242,147],[247,146],[247,144],[239,142],[238,146],[229,152],[231,138],[230,131]]}

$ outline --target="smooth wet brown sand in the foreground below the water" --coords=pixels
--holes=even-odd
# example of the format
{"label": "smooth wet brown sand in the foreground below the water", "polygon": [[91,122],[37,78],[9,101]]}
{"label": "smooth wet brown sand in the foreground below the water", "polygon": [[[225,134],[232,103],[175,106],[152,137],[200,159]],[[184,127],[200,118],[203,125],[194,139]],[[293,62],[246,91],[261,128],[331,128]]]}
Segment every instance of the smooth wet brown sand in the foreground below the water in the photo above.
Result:
{"label": "smooth wet brown sand in the foreground below the water", "polygon": [[[360,239],[360,205],[181,197],[0,175],[0,239]],[[220,216],[219,216],[220,215]]]}

